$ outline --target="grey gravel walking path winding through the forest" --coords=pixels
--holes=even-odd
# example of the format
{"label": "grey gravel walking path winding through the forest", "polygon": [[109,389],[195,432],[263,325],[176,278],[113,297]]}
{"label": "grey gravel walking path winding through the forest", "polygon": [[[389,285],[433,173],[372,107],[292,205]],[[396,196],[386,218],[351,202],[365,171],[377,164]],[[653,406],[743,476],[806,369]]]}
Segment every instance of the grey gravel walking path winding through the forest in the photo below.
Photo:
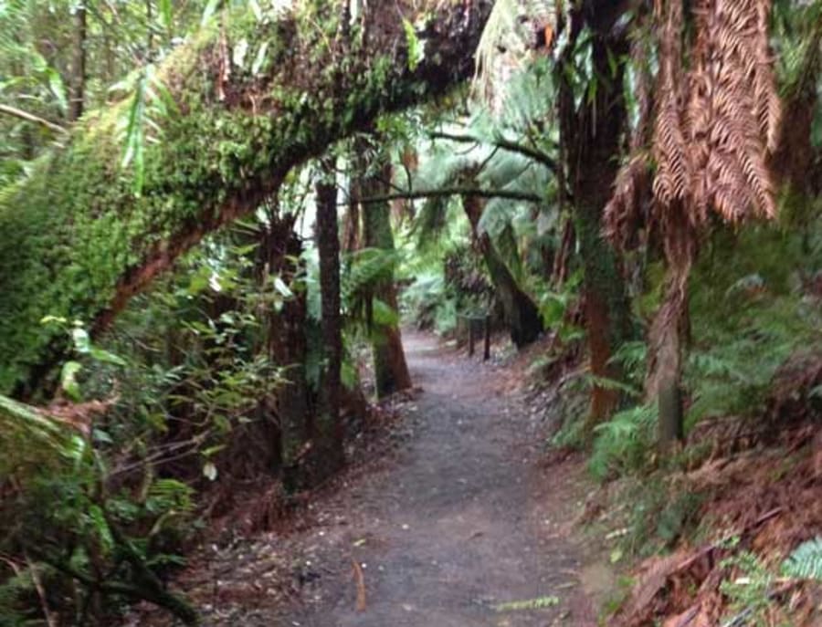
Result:
{"label": "grey gravel walking path winding through the forest", "polygon": [[[313,532],[320,563],[311,568],[324,573],[303,586],[302,605],[281,624],[595,625],[578,580],[581,551],[569,538],[579,486],[574,492],[573,477],[537,464],[533,414],[504,392],[501,369],[429,335],[404,340],[423,388],[407,408],[412,434],[387,470],[333,496],[344,517]],[[364,611],[353,560],[362,565]]]}

